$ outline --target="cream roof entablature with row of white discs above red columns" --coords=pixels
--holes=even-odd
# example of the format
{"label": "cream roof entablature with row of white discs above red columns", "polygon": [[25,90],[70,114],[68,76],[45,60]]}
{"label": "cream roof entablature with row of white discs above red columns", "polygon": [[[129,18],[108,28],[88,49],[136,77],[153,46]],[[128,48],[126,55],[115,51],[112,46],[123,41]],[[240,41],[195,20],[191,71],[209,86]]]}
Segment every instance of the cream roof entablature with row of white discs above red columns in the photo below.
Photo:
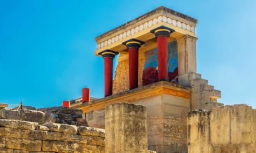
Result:
{"label": "cream roof entablature with row of white discs above red columns", "polygon": [[95,55],[99,55],[100,52],[105,50],[126,51],[127,48],[122,43],[132,38],[145,42],[145,45],[141,46],[140,50],[151,49],[155,47],[154,43],[156,41],[154,40],[154,34],[150,31],[160,26],[174,29],[175,32],[171,34],[169,39],[178,39],[184,35],[195,37],[197,22],[195,18],[161,6],[96,37],[97,50]]}

